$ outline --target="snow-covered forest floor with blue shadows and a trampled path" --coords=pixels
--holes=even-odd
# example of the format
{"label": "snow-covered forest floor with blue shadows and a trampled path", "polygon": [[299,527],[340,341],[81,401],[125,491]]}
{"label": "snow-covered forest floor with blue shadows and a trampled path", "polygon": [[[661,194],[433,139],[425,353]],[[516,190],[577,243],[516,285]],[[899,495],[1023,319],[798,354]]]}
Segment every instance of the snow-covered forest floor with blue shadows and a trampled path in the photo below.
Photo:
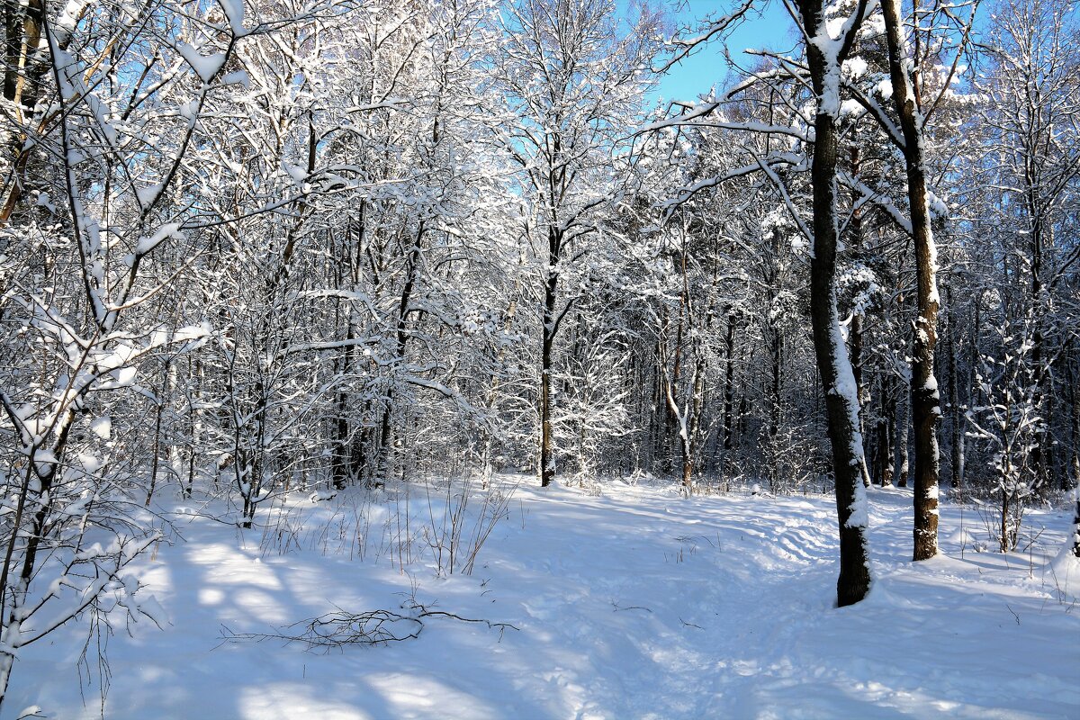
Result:
{"label": "snow-covered forest floor with blue shadows and a trampled path", "polygon": [[[910,495],[870,501],[875,585],[842,610],[823,497],[523,487],[475,572],[448,578],[420,552],[422,495],[409,504],[411,563],[379,507],[367,511],[365,559],[350,559],[355,495],[297,498],[271,532],[184,518],[184,542],[144,561],[171,624],[112,637],[105,717],[1080,718],[1080,603],[1061,592],[1080,589],[1080,565],[1051,563],[1066,514],[1031,512],[1027,529],[1045,531],[1005,557],[972,549],[986,531],[968,508],[961,558],[959,510],[946,506],[943,555],[913,565]],[[1058,576],[1070,568],[1077,578]],[[419,639],[329,654],[221,640],[222,626],[273,631],[410,596],[518,629],[430,619]],[[96,680],[80,698],[75,637],[24,653],[5,718],[33,704],[99,717]]]}

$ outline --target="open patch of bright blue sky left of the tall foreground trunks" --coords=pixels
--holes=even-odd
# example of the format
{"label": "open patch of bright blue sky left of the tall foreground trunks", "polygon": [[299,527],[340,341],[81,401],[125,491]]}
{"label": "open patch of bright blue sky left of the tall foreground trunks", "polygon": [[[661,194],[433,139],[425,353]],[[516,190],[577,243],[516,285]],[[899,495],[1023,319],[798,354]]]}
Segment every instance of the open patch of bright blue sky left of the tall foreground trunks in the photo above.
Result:
{"label": "open patch of bright blue sky left of the tall foreground trunks", "polygon": [[[692,25],[696,19],[708,13],[724,15],[732,4],[734,0],[687,0],[679,12],[673,13],[673,17],[678,25]],[[762,0],[760,4],[764,10],[752,12],[727,40],[732,57],[741,64],[748,64],[751,60],[742,54],[747,47],[789,50],[795,44],[791,33],[791,18],[780,2],[772,0],[766,3]],[[713,40],[692,57],[672,68],[661,81],[656,95],[669,100],[693,100],[699,94],[707,93],[714,84],[723,85],[727,73],[721,41]]]}

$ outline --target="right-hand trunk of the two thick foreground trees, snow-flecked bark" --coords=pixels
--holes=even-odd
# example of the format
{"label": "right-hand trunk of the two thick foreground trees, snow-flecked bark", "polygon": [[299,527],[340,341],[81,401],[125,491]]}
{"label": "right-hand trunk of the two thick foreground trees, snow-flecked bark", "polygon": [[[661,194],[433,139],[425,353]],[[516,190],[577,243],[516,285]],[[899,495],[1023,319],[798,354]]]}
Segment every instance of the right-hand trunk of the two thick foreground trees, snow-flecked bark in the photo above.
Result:
{"label": "right-hand trunk of the two thick foreground trees, snow-flecked bark", "polygon": [[926,560],[937,554],[937,477],[941,465],[937,447],[941,398],[937,379],[934,377],[934,344],[937,340],[937,309],[941,304],[936,279],[937,250],[930,228],[922,142],[923,119],[913,76],[913,59],[907,57],[905,50],[900,0],[882,0],[881,10],[889,45],[892,97],[904,135],[907,200],[912,212],[912,239],[915,243],[919,316],[916,320],[912,353],[912,423],[915,427],[913,559]]}

